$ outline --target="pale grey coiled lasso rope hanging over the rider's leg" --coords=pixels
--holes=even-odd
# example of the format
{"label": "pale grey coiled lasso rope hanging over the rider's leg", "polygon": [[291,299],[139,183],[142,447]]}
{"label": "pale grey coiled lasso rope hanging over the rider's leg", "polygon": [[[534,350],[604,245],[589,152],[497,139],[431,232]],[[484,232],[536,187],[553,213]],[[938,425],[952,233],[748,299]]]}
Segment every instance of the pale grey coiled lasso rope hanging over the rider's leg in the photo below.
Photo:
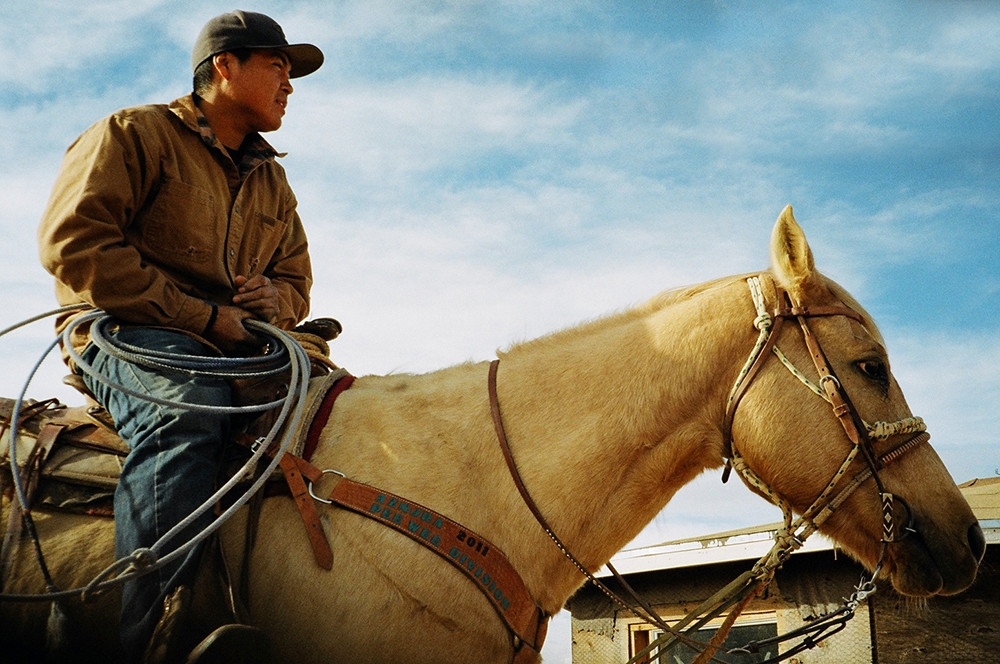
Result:
{"label": "pale grey coiled lasso rope hanging over the rider's leg", "polygon": [[[89,309],[87,305],[70,305],[68,307],[62,307],[38,316],[34,316],[30,319],[22,321],[14,326],[11,326],[3,331],[0,331],[0,337],[5,334],[23,327],[29,323],[47,318],[60,313],[72,312],[82,309]],[[91,339],[93,342],[101,348],[101,350],[111,353],[116,357],[121,359],[126,359],[130,362],[135,362],[147,367],[156,367],[162,370],[189,373],[191,375],[210,375],[220,378],[234,378],[234,377],[261,377],[277,375],[283,372],[289,372],[289,390],[288,396],[284,399],[272,401],[263,404],[254,404],[249,406],[208,406],[205,404],[180,404],[174,403],[168,400],[161,400],[150,395],[136,393],[123,385],[116,384],[112,381],[97,374],[94,369],[88,364],[80,355],[73,350],[72,344],[70,343],[70,338],[73,331],[79,326],[91,323]],[[39,555],[40,564],[42,565],[43,575],[46,577],[46,585],[49,587],[46,593],[34,594],[34,595],[24,595],[24,594],[0,594],[0,600],[10,600],[10,601],[54,601],[69,597],[81,597],[86,599],[87,597],[95,596],[98,593],[104,592],[116,585],[119,585],[127,580],[136,578],[143,574],[152,572],[164,565],[169,564],[173,560],[186,555],[192,548],[198,545],[198,543],[205,540],[212,533],[218,530],[226,521],[229,520],[233,514],[236,513],[241,507],[243,507],[253,496],[260,490],[264,483],[268,480],[273,471],[277,468],[278,463],[283,456],[283,454],[291,446],[293,440],[294,432],[298,430],[299,425],[302,421],[303,415],[305,413],[306,406],[306,394],[309,388],[309,375],[310,375],[310,365],[309,357],[306,355],[305,351],[302,349],[301,345],[288,333],[274,327],[273,325],[268,325],[260,321],[253,319],[247,319],[244,324],[252,331],[260,334],[261,336],[269,339],[275,352],[264,355],[261,357],[250,357],[250,358],[226,358],[226,357],[200,357],[200,356],[190,356],[190,355],[179,355],[171,353],[163,353],[159,351],[150,351],[147,349],[137,348],[128,344],[123,344],[114,341],[107,334],[108,328],[114,325],[115,322],[107,314],[100,310],[88,311],[77,318],[75,318],[63,331],[61,337],[57,337],[52,343],[49,344],[45,352],[41,355],[38,361],[35,363],[31,372],[29,373],[27,379],[25,380],[24,386],[21,389],[20,394],[14,404],[14,408],[11,414],[11,433],[10,433],[10,465],[11,474],[13,476],[14,489],[17,494],[18,502],[21,505],[22,515],[25,518],[26,523],[29,524],[29,530],[34,529],[33,524],[31,524],[30,510],[26,509],[27,498],[25,495],[24,487],[21,484],[21,478],[17,472],[17,433],[18,433],[18,419],[20,411],[22,408],[22,403],[24,401],[24,395],[31,384],[32,379],[38,372],[44,359],[55,349],[59,342],[62,341],[64,347],[67,350],[69,356],[76,363],[80,371],[87,373],[89,376],[96,380],[99,380],[112,389],[119,390],[130,396],[145,399],[159,404],[168,404],[172,406],[178,406],[186,408],[193,411],[200,412],[217,412],[217,413],[229,413],[229,414],[239,414],[239,413],[254,413],[263,412],[266,410],[275,409],[281,407],[278,413],[274,425],[271,427],[267,436],[264,437],[260,444],[255,446],[253,454],[246,461],[246,463],[236,471],[229,480],[223,484],[219,489],[212,494],[204,503],[202,503],[194,512],[188,515],[176,526],[171,528],[167,533],[165,533],[160,539],[158,539],[152,546],[148,548],[141,548],[133,551],[131,554],[116,560],[106,569],[104,569],[100,574],[98,574],[93,581],[88,583],[86,586],[75,588],[72,590],[57,590],[52,583],[50,577],[48,576],[47,570],[44,568],[44,559],[41,558],[41,551],[38,548],[40,545],[36,541],[36,549]],[[285,426],[287,422],[287,426]],[[283,432],[283,433],[282,433]],[[202,514],[212,509],[215,504],[226,494],[229,493],[237,484],[244,480],[244,478],[252,477],[254,475],[255,469],[257,469],[261,459],[267,452],[268,448],[271,446],[278,434],[282,433],[282,437],[279,442],[277,453],[274,454],[273,458],[268,463],[264,472],[259,474],[259,477],[244,490],[243,494],[236,499],[232,505],[226,509],[222,514],[216,517],[211,524],[205,527],[202,531],[195,534],[190,540],[184,542],[183,544],[177,546],[176,548],[169,550],[167,543],[173,540],[181,531],[190,526],[195,520],[197,520]],[[12,506],[13,507],[13,506]]]}

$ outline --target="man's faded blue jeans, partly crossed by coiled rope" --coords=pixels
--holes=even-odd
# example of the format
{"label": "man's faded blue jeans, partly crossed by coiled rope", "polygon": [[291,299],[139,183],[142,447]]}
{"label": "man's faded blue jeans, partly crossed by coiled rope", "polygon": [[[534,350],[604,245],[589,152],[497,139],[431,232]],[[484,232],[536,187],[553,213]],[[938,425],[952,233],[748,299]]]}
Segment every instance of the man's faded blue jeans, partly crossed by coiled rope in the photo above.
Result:
{"label": "man's faded blue jeans, partly crossed by coiled rope", "polygon": [[[170,330],[125,327],[114,337],[142,348],[186,355],[213,355],[197,340]],[[83,354],[101,375],[140,394],[172,402],[229,406],[225,379],[147,369],[108,355],[91,344]],[[216,487],[230,415],[163,406],[112,389],[91,376],[84,383],[114,418],[118,434],[131,450],[115,492],[115,555],[149,547],[175,526]],[[213,519],[209,510],[166,543],[162,554],[187,542]],[[122,588],[121,638],[130,661],[140,661],[163,610],[163,599],[177,586],[191,584],[200,548]]]}

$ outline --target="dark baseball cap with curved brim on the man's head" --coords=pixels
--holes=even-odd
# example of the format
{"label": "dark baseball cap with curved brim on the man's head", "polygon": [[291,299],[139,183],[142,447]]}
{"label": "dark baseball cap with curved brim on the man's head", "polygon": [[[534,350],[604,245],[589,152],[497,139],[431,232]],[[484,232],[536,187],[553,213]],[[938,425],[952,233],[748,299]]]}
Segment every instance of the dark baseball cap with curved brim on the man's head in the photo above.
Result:
{"label": "dark baseball cap with curved brim on the man's head", "polygon": [[288,56],[289,78],[311,74],[323,64],[323,52],[312,44],[289,44],[277,21],[264,14],[236,10],[216,16],[201,29],[191,52],[191,69],[217,53],[241,48],[275,49]]}

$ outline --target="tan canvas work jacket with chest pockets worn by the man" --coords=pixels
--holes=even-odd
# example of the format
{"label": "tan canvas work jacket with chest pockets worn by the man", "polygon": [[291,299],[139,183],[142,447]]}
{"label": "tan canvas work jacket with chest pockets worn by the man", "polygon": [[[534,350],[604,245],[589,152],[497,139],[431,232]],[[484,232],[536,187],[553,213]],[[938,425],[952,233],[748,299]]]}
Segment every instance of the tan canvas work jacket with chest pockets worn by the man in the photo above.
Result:
{"label": "tan canvas work jacket with chest pockets worn by the man", "polygon": [[66,153],[38,232],[59,303],[200,335],[212,303],[231,304],[237,275],[264,274],[281,297],[276,324],[294,327],[309,309],[306,235],[280,155],[259,136],[247,154],[241,177],[191,95],[90,127]]}

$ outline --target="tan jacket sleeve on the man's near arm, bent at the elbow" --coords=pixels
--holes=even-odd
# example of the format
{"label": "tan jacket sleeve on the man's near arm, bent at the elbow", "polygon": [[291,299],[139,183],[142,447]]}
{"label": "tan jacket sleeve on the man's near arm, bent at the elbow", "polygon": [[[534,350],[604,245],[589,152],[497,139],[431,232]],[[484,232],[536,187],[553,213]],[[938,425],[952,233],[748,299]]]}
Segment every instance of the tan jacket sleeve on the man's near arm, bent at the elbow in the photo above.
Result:
{"label": "tan jacket sleeve on the man's near arm, bent at the elbow", "polygon": [[[87,302],[131,323],[203,332],[211,305],[181,292],[125,237],[157,186],[158,157],[112,115],[70,146],[38,231],[42,265],[63,304]],[[155,193],[155,192],[154,192]]]}

